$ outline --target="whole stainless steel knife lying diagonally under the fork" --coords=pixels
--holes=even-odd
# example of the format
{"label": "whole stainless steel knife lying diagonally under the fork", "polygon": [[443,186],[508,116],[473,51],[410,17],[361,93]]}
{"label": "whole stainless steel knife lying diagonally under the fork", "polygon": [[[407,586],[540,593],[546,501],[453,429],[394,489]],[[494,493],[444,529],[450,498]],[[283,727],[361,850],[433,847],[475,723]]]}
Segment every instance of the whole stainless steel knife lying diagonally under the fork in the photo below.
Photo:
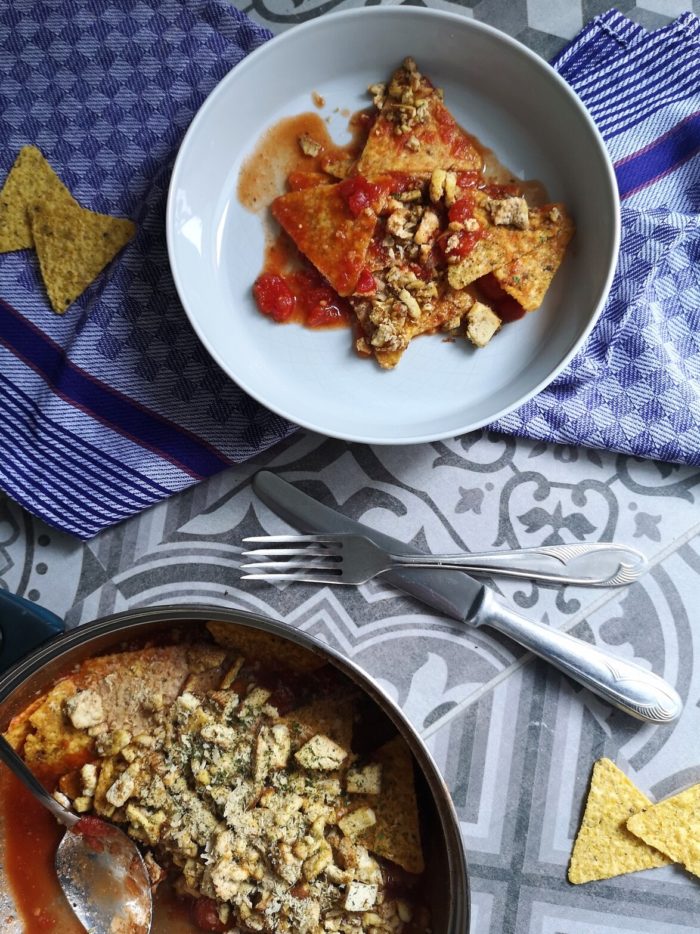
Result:
{"label": "whole stainless steel knife lying diagonally under the fork", "polygon": [[[266,506],[301,532],[357,532],[390,551],[420,554],[405,542],[323,506],[268,470],[255,475],[253,490]],[[497,629],[639,720],[670,723],[682,710],[680,697],[663,678],[568,633],[528,620],[469,574],[397,569],[388,571],[384,579],[453,619]]]}

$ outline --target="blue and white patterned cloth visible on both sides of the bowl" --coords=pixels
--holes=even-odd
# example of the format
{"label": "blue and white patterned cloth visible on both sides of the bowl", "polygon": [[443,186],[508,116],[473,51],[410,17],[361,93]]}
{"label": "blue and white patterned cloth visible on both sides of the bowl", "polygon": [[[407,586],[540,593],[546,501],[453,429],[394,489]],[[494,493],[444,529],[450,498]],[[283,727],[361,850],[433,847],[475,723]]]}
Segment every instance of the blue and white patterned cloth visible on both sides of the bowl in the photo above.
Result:
{"label": "blue and white patterned cloth visible on both sides of the bowl", "polygon": [[[32,251],[0,256],[0,487],[89,538],[295,430],[216,367],[177,300],[164,207],[202,101],[270,37],[226,0],[0,4],[0,180],[44,152],[135,240],[70,313]],[[591,110],[623,196],[620,269],[567,372],[499,430],[700,464],[698,21],[613,12],[555,67]]]}

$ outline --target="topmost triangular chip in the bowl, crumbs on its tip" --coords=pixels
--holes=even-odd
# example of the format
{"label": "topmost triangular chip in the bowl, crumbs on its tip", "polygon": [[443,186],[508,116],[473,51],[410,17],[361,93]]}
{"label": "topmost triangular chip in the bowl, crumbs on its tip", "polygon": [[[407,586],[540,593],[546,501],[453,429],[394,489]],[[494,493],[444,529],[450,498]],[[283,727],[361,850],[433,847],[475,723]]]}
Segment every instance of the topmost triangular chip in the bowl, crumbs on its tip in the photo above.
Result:
{"label": "topmost triangular chip in the bowl, crumbs on its tip", "polygon": [[429,176],[434,168],[481,168],[483,160],[471,137],[412,59],[394,72],[386,96],[375,100],[381,110],[357,164],[361,175],[391,171]]}

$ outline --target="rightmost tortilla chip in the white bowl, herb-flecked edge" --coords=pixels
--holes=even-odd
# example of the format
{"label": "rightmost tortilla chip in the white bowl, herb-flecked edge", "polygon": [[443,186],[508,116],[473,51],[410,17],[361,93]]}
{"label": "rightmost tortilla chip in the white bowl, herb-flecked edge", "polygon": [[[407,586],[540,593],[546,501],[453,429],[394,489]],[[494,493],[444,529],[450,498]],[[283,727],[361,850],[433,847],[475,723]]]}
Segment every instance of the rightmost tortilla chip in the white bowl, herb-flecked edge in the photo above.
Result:
{"label": "rightmost tortilla chip in the white bowl, herb-flecked edge", "polygon": [[518,256],[506,266],[493,270],[502,289],[508,292],[525,311],[539,308],[552,279],[559,269],[566,248],[574,235],[574,224],[562,204],[547,205],[543,211],[555,210],[557,233],[529,253]]}

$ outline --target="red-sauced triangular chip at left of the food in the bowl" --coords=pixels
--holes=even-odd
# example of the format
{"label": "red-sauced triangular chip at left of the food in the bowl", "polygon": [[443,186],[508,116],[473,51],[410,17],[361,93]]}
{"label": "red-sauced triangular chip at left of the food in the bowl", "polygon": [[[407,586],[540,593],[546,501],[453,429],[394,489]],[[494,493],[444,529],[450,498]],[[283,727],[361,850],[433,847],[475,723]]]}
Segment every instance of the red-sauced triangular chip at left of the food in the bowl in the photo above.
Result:
{"label": "red-sauced triangular chip at left of the food in the bowl", "polygon": [[272,214],[339,295],[351,295],[362,272],[377,224],[376,212],[386,186],[372,209],[356,217],[343,194],[344,182],[290,191],[272,203]]}

